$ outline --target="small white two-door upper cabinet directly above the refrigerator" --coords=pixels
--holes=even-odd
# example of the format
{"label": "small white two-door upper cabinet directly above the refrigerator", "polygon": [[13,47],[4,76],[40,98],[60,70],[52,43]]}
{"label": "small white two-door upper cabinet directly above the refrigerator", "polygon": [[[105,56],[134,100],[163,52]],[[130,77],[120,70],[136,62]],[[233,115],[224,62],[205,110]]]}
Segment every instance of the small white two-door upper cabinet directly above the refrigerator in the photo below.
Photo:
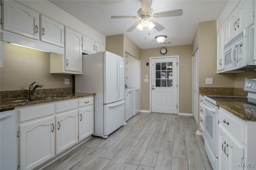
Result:
{"label": "small white two-door upper cabinet directly above the refrigerator", "polygon": [[105,51],[105,45],[94,41],[93,39],[82,36],[82,50],[88,54]]}

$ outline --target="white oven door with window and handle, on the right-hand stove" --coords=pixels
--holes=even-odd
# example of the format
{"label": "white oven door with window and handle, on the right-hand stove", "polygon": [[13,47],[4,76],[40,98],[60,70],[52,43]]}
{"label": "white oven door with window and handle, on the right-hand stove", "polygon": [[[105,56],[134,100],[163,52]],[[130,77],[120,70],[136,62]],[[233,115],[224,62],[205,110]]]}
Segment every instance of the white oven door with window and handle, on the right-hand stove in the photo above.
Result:
{"label": "white oven door with window and handle, on the right-hand stove", "polygon": [[204,136],[217,157],[218,106],[204,100]]}

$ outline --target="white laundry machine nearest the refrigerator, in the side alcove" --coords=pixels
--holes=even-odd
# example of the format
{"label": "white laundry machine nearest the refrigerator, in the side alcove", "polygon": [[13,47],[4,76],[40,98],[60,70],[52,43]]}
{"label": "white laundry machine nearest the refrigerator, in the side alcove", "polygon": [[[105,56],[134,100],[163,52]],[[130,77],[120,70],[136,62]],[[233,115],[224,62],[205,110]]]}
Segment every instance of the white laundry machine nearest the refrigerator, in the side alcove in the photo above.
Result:
{"label": "white laundry machine nearest the refrigerator, in the side alcove", "polygon": [[134,89],[125,90],[125,121],[133,117],[133,91]]}

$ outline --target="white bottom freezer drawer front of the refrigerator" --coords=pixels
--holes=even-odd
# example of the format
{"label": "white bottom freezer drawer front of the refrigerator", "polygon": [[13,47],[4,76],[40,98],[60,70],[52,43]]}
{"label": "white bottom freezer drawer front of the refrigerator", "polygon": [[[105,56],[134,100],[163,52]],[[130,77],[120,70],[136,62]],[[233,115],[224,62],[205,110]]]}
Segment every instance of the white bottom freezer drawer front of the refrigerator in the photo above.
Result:
{"label": "white bottom freezer drawer front of the refrigerator", "polygon": [[124,124],[124,103],[125,101],[122,100],[104,105],[105,138]]}

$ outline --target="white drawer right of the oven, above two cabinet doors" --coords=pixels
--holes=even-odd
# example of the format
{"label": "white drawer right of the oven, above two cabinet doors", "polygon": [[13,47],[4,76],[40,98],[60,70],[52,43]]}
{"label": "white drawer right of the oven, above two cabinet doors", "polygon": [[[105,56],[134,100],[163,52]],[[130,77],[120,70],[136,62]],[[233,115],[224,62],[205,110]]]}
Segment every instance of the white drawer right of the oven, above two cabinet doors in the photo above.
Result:
{"label": "white drawer right of the oven, above two cabinet doors", "polygon": [[237,140],[244,143],[244,123],[224,109],[219,109],[219,124],[225,127]]}

